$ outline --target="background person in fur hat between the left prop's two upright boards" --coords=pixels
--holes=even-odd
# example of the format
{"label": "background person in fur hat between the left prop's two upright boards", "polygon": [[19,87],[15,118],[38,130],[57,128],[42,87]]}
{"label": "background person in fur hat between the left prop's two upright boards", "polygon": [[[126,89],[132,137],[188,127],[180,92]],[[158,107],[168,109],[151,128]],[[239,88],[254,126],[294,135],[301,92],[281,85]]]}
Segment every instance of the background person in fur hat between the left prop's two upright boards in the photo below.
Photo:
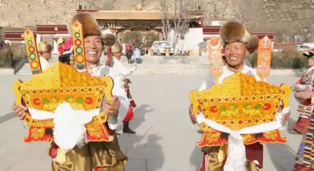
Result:
{"label": "background person in fur hat between the left prop's two upright boards", "polygon": [[41,42],[38,44],[38,54],[39,54],[39,62],[42,71],[44,71],[47,67],[50,66],[48,60],[52,56],[53,46],[47,42]]}

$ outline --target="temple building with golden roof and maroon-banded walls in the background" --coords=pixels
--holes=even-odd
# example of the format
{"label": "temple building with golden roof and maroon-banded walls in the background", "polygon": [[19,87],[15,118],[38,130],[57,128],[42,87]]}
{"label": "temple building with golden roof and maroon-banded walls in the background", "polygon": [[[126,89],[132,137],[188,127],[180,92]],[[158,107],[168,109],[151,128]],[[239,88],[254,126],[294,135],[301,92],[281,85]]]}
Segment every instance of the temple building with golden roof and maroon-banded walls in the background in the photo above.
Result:
{"label": "temple building with golden roof and maroon-banded walls in the background", "polygon": [[[136,7],[134,11],[99,11],[99,10],[82,10],[78,9],[77,13],[88,12],[91,13],[95,19],[99,22],[99,25],[103,30],[110,29],[111,32],[116,34],[117,40],[121,43],[131,43],[126,37],[132,32],[141,32],[145,34],[155,35],[155,39],[142,40],[146,46],[149,46],[146,42],[162,41],[162,13],[161,11],[142,11],[141,6]],[[175,12],[169,12],[169,15],[176,15]],[[175,19],[173,19],[175,20]],[[199,51],[199,43],[209,39],[213,36],[219,36],[220,26],[205,26],[203,25],[204,15],[202,11],[195,10],[188,13],[188,16],[183,17],[181,20],[188,20],[186,22],[187,29],[185,29],[177,41],[176,50],[182,51]],[[22,34],[26,28],[30,28],[36,33],[36,42],[47,41],[54,46],[53,53],[57,52],[57,39],[59,37],[70,37],[68,34],[66,25],[36,25],[36,26],[24,26],[19,31],[4,31],[4,39],[6,42],[11,43],[23,43]],[[172,30],[173,32],[173,30]],[[253,33],[258,35],[259,38],[267,35],[273,40],[273,33]],[[170,35],[170,39],[173,39],[173,33]],[[173,41],[170,41],[171,44]]]}

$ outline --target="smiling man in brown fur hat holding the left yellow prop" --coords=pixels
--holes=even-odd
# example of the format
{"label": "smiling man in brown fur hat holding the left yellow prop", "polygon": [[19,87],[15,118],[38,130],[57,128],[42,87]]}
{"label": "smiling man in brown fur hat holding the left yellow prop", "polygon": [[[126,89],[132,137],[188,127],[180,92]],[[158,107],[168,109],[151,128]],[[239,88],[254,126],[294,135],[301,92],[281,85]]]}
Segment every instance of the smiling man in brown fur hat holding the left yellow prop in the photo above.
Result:
{"label": "smiling man in brown fur hat holding the left yellow prop", "polygon": [[[83,27],[87,72],[98,77],[108,75],[114,82],[112,99],[104,100],[101,107],[108,115],[105,127],[114,139],[110,142],[89,142],[80,148],[76,146],[66,153],[60,152],[57,145],[52,142],[49,150],[49,155],[53,159],[52,171],[125,171],[124,163],[128,158],[120,150],[115,128],[122,123],[129,109],[129,101],[123,77],[99,61],[104,46],[112,46],[116,42],[116,37],[113,34],[102,34],[97,21],[89,13],[75,15],[68,26],[69,32],[75,21],[80,22]],[[21,120],[25,118],[26,107],[14,105],[12,109]]]}

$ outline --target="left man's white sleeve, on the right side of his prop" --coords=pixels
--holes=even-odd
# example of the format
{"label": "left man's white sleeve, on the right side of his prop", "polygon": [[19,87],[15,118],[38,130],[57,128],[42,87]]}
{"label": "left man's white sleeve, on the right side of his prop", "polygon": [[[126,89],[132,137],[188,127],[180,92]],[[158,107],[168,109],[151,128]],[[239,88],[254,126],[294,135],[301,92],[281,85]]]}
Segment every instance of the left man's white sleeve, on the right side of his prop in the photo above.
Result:
{"label": "left man's white sleeve, on the right side of his prop", "polygon": [[112,88],[112,95],[117,96],[120,101],[119,113],[116,116],[108,116],[108,126],[110,129],[116,129],[122,124],[127,111],[129,110],[129,100],[124,89],[124,82],[122,76],[115,76],[113,78],[114,86]]}

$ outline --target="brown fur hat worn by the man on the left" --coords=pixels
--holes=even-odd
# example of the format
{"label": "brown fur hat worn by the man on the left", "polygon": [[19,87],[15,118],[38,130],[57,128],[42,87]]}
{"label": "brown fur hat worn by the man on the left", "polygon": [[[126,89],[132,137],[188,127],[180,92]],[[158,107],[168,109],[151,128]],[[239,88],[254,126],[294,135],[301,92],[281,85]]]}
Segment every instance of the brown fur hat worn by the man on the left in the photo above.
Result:
{"label": "brown fur hat worn by the man on the left", "polygon": [[83,37],[86,36],[100,36],[104,46],[112,46],[117,38],[112,33],[102,33],[102,29],[99,26],[96,19],[90,13],[78,13],[76,14],[68,24],[68,31],[71,33],[72,24],[78,21],[83,27]]}

